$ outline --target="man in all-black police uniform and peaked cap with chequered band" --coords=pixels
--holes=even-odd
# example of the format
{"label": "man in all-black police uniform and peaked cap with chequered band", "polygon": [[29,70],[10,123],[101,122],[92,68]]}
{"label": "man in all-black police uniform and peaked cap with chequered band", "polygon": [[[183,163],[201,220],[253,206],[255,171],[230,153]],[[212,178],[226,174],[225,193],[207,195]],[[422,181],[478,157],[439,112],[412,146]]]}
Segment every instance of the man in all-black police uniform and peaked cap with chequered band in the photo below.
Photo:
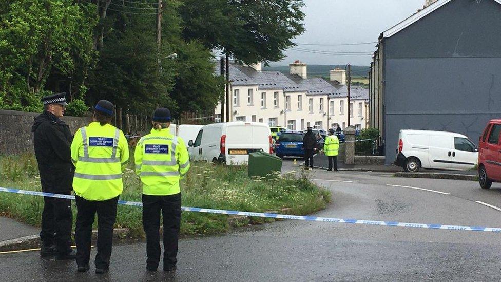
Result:
{"label": "man in all-black police uniform and peaked cap with chequered band", "polygon": [[[42,191],[70,195],[74,170],[70,160],[71,133],[60,119],[68,105],[65,96],[63,92],[42,98],[44,112],[35,118],[31,131]],[[44,197],[41,256],[75,258],[75,251],[70,248],[72,220],[70,199]]]}

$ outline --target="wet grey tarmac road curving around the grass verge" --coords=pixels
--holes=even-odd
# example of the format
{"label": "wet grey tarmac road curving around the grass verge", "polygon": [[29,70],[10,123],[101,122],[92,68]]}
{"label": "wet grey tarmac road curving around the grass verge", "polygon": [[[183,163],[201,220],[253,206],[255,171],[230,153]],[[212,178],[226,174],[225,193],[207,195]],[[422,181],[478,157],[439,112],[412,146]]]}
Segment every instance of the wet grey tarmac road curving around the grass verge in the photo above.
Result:
{"label": "wet grey tarmac road curving around the grass verge", "polygon": [[[486,191],[476,182],[378,173],[315,170],[311,177],[333,193],[318,216],[501,227],[501,212],[477,202],[501,206],[500,184]],[[174,273],[146,272],[145,245],[136,242],[113,247],[104,276],[27,252],[0,255],[0,280],[499,280],[500,242],[501,234],[487,232],[286,220],[183,239]]]}

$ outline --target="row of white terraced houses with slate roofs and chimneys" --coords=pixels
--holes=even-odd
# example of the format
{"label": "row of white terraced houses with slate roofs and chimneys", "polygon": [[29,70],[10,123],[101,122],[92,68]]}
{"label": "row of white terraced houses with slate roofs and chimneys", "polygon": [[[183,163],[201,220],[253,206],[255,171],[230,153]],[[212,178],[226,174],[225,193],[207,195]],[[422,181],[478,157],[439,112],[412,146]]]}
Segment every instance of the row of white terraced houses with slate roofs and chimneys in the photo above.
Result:
{"label": "row of white terraced houses with slate roofs and chimneys", "polygon": [[[290,64],[290,74],[262,71],[261,64],[230,64],[231,101],[229,121],[253,121],[291,130],[307,126],[327,129],[348,126],[360,129],[368,124],[368,89],[352,86],[350,105],[344,70],[332,70],[331,80],[307,78],[307,65]],[[214,110],[221,122],[221,104]]]}

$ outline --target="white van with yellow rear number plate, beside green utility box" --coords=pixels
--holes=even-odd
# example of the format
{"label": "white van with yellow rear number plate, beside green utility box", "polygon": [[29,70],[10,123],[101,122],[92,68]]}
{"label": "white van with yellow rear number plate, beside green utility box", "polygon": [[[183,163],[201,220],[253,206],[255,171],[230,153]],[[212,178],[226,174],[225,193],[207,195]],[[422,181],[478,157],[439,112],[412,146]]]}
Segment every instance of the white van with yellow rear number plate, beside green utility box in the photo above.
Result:
{"label": "white van with yellow rear number plate, beside green utility box", "polygon": [[188,145],[192,160],[242,165],[249,153],[271,153],[273,140],[267,124],[237,121],[205,125]]}

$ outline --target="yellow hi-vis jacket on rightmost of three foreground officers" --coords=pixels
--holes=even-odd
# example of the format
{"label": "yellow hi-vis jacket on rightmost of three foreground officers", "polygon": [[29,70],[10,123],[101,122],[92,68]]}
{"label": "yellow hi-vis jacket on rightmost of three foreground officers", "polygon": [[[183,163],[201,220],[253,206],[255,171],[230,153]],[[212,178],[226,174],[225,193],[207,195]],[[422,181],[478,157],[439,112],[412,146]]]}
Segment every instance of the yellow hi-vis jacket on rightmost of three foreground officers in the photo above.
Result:
{"label": "yellow hi-vis jacket on rightmost of three foreground officers", "polygon": [[189,170],[189,155],[184,140],[168,128],[151,129],[143,136],[134,153],[136,173],[143,182],[145,195],[174,195],[179,181]]}

